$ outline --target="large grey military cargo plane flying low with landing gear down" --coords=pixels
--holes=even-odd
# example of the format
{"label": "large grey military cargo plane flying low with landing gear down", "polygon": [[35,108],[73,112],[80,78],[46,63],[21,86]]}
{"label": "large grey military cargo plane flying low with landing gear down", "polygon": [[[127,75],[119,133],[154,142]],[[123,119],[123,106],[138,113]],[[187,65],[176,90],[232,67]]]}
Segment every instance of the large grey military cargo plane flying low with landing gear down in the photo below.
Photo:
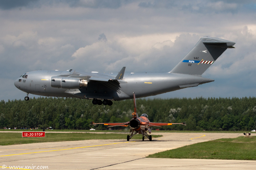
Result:
{"label": "large grey military cargo plane flying low with landing gear down", "polygon": [[[52,97],[92,99],[93,104],[112,105],[112,100],[132,99],[194,87],[214,80],[202,77],[212,63],[235,42],[203,37],[194,48],[168,73],[117,75],[75,70],[38,70],[27,72],[14,85],[28,94]],[[103,101],[102,101],[103,100]]]}

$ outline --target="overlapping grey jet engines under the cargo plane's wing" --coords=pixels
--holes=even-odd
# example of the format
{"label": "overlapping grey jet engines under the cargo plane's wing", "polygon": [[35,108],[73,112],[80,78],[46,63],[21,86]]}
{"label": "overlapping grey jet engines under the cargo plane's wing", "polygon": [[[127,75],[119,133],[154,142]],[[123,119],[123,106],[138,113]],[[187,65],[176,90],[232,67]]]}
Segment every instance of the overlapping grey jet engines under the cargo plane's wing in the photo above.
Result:
{"label": "overlapping grey jet engines under the cargo plane's wing", "polygon": [[79,89],[81,87],[87,87],[87,84],[87,80],[82,80],[81,78],[59,76],[54,76],[51,78],[51,86],[55,88]]}

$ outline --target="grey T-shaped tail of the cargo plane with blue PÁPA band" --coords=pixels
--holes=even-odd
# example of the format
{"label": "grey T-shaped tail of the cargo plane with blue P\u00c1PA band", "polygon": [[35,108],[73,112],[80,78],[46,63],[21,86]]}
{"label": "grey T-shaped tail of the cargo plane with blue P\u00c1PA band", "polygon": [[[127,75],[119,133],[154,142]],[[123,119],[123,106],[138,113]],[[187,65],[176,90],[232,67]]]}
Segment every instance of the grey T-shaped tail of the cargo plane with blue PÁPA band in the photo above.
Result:
{"label": "grey T-shaped tail of the cargo plane with blue P\u00c1PA band", "polygon": [[235,44],[219,38],[203,37],[169,73],[202,75],[227,48],[235,48]]}

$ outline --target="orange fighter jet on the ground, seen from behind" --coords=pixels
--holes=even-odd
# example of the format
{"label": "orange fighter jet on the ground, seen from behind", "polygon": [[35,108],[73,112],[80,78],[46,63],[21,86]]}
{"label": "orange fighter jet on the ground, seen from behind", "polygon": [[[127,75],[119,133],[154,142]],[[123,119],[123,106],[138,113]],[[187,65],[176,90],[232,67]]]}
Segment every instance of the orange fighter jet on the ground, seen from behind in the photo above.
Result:
{"label": "orange fighter jet on the ground, seen from behind", "polygon": [[[93,123],[91,122],[91,125],[96,126],[96,124],[104,124],[104,125],[110,125],[110,127],[114,126],[130,126],[130,133],[131,135],[127,135],[127,141],[129,141],[134,135],[137,133],[142,134],[142,140],[144,141],[145,136],[149,139],[149,141],[152,141],[152,136],[148,135],[148,133],[151,133],[150,126],[156,126],[161,127],[164,125],[172,125],[172,124],[182,124],[186,126],[186,123],[153,123],[148,120],[147,114],[142,114],[140,117],[137,114],[137,107],[136,107],[136,100],[135,100],[135,93],[133,92],[133,99],[134,99],[134,112],[132,113],[132,119],[129,122],[125,123]],[[148,133],[147,133],[148,131]]]}

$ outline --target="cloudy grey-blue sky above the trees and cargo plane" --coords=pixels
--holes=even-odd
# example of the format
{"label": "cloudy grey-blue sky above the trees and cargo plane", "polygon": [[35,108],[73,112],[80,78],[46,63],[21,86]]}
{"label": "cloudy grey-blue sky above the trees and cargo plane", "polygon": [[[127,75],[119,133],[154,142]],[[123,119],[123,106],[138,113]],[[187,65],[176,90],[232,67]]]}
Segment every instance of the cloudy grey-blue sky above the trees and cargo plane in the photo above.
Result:
{"label": "cloudy grey-blue sky above the trees and cargo plane", "polygon": [[14,81],[34,70],[169,72],[206,36],[236,42],[215,81],[151,98],[256,97],[255,18],[253,0],[1,0],[0,100],[23,100]]}

